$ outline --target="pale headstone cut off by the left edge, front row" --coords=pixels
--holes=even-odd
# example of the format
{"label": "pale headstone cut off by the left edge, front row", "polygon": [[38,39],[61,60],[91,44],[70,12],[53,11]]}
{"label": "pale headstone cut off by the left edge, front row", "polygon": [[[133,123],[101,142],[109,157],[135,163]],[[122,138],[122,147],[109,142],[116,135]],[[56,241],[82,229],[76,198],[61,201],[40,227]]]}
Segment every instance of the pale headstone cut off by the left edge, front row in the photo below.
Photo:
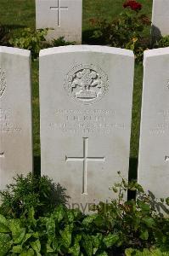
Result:
{"label": "pale headstone cut off by the left edge, front row", "polygon": [[0,189],[32,172],[31,53],[0,46]]}

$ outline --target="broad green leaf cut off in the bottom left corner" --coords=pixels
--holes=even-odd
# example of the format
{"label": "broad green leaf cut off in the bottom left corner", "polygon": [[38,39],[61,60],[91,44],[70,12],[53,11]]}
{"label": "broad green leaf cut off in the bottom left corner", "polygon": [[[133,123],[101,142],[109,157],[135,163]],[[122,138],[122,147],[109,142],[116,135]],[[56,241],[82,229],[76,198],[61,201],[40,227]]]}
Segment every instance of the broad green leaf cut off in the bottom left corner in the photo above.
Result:
{"label": "broad green leaf cut off in the bottom left corner", "polygon": [[8,234],[0,233],[0,255],[7,255],[12,246],[11,237]]}

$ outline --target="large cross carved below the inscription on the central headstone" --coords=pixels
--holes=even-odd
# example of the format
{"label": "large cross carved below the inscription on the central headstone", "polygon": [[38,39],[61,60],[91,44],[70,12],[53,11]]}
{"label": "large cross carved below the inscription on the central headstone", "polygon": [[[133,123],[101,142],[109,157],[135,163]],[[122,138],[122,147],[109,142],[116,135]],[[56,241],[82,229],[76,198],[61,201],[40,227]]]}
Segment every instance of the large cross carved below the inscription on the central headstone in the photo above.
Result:
{"label": "large cross carved below the inscription on the central headstone", "polygon": [[87,162],[88,161],[104,161],[105,157],[88,157],[88,137],[83,137],[83,156],[82,157],[67,157],[66,161],[82,161],[83,162],[83,183],[82,194],[87,195]]}

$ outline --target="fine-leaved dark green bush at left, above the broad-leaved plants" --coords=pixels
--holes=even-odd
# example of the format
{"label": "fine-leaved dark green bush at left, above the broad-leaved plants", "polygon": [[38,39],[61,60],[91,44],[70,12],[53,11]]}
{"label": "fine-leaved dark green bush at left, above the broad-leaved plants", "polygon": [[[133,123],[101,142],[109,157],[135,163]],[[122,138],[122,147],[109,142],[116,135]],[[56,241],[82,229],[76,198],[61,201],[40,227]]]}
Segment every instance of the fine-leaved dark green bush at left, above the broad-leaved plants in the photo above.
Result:
{"label": "fine-leaved dark green bush at left, above the broad-leaved plants", "polygon": [[26,177],[17,175],[14,183],[0,191],[0,213],[11,218],[20,218],[34,207],[36,216],[45,215],[59,204],[68,200],[65,189],[47,176],[34,177],[31,173]]}

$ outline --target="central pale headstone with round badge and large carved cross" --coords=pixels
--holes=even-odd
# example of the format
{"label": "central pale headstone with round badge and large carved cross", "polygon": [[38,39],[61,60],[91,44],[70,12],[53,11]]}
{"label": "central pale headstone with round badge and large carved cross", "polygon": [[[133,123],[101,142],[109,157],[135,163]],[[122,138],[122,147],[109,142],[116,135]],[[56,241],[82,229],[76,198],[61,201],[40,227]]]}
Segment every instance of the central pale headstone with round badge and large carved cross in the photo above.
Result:
{"label": "central pale headstone with round badge and large carved cross", "polygon": [[69,207],[114,195],[128,177],[134,57],[106,46],[40,52],[42,174],[67,189]]}

